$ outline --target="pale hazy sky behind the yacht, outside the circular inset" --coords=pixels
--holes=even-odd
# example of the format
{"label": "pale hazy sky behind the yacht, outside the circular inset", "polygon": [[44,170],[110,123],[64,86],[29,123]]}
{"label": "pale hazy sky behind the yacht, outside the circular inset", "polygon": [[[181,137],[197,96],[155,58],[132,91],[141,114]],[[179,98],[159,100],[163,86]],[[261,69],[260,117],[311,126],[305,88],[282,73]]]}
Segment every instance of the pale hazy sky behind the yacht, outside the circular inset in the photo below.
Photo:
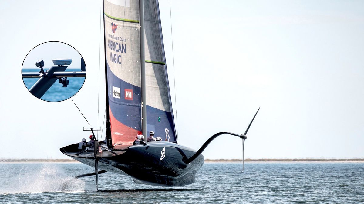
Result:
{"label": "pale hazy sky behind the yacht, outside the circular inset", "polygon": [[[42,42],[65,42],[83,56],[86,81],[72,99],[102,126],[100,6],[1,1],[0,158],[67,158],[59,148],[89,134],[71,99],[41,101],[24,86],[24,57]],[[160,11],[174,87],[169,1]],[[172,0],[171,17],[179,144],[197,150],[216,132],[242,134],[261,107],[245,158],[364,157],[364,1]],[[242,158],[241,150],[241,139],[225,135],[203,155]]]}

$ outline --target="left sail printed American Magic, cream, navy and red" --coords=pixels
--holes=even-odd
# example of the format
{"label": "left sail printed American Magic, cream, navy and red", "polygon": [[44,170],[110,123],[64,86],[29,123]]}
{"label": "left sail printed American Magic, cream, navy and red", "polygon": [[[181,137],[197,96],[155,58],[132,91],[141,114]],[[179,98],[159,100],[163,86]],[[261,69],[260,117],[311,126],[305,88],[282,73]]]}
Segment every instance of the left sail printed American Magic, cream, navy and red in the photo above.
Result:
{"label": "left sail printed American Magic, cream, navy and red", "polygon": [[123,148],[142,132],[139,1],[105,0],[104,29],[109,146]]}

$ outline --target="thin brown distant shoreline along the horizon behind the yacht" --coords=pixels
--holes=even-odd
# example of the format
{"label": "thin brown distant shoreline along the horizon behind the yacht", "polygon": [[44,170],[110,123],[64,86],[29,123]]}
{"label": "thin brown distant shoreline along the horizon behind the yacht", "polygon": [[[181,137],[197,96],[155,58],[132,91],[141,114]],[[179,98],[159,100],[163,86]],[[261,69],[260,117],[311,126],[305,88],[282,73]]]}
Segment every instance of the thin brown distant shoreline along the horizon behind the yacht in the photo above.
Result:
{"label": "thin brown distant shoreline along the horizon behind the yacht", "polygon": [[[287,162],[287,163],[300,163],[300,162],[363,162],[364,159],[245,159],[245,162],[252,163],[265,163],[265,162]],[[0,159],[2,162],[78,162],[74,159]],[[241,159],[205,159],[205,162],[242,162]]]}

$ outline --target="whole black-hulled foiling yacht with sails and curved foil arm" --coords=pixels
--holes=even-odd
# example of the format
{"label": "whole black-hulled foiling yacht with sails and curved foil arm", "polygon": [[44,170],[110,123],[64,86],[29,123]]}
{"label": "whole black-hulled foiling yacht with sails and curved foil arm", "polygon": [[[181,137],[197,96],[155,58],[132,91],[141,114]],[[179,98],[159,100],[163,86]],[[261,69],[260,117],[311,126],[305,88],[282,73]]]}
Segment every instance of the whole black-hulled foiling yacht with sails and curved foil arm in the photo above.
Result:
{"label": "whole black-hulled foiling yacht with sails and curved foil arm", "polygon": [[[129,175],[136,183],[149,185],[193,183],[206,146],[222,134],[239,136],[244,144],[254,118],[243,135],[219,132],[198,151],[179,145],[158,0],[104,0],[103,8],[107,144],[95,140],[82,151],[78,143],[60,151],[95,167],[95,172],[76,178],[95,175],[96,188],[98,174],[104,172]],[[133,145],[137,135],[150,131],[163,141]]]}

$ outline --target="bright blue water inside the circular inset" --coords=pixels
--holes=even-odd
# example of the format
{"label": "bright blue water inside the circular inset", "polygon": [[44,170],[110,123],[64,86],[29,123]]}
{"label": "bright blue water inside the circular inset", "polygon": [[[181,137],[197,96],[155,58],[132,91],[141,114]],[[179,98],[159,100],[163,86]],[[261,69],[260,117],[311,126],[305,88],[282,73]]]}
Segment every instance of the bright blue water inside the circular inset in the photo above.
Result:
{"label": "bright blue water inside the circular inset", "polygon": [[[44,69],[45,71],[46,69]],[[80,71],[79,69],[66,69],[66,72]],[[23,72],[39,72],[39,69],[23,69]],[[39,78],[23,78],[24,84],[29,90]],[[82,87],[85,77],[68,77],[69,84],[63,87],[61,83],[56,81],[50,89],[40,98],[44,101],[63,101],[71,98]],[[31,94],[31,93],[29,93]]]}

